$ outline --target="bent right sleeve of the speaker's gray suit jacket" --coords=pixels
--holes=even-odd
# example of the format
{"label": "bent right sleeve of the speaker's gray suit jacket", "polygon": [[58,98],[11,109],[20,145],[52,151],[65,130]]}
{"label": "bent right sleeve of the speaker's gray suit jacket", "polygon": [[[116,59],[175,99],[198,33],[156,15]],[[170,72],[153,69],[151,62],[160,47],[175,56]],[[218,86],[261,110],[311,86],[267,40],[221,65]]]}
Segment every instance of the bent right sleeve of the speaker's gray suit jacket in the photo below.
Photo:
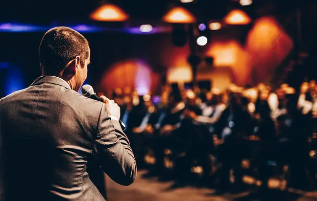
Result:
{"label": "bent right sleeve of the speaker's gray suit jacket", "polygon": [[108,116],[105,104],[97,123],[94,154],[113,181],[125,186],[134,182],[137,169],[130,142],[119,122]]}

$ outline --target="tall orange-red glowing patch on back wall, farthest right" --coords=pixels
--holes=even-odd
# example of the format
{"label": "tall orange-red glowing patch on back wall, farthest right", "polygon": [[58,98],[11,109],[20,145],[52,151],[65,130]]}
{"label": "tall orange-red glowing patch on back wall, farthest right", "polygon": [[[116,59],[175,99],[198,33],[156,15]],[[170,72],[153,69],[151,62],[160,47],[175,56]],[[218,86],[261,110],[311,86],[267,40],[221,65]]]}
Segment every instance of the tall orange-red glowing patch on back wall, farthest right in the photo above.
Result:
{"label": "tall orange-red glowing patch on back wall, farthest right", "polygon": [[263,17],[257,20],[248,34],[246,44],[249,65],[255,69],[256,80],[265,82],[270,79],[276,66],[292,47],[291,38],[274,18]]}

